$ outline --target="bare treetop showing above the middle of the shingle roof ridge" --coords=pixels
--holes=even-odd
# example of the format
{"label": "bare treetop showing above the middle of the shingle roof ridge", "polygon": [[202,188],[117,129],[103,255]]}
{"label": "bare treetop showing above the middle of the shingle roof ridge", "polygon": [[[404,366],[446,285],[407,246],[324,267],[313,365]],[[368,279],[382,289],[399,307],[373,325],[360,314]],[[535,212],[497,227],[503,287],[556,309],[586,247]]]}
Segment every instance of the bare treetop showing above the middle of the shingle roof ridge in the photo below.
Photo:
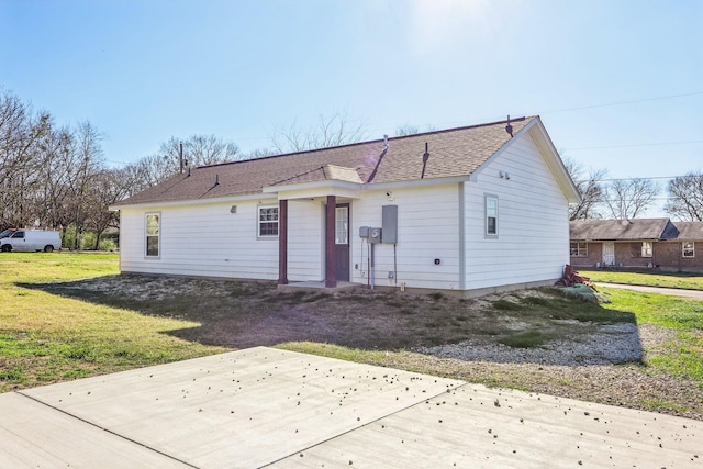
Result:
{"label": "bare treetop showing above the middle of the shingle roof ridge", "polygon": [[320,115],[306,130],[293,121],[288,127],[278,127],[270,138],[278,153],[290,153],[356,143],[364,136],[364,124],[354,124],[346,112],[337,112],[331,118]]}

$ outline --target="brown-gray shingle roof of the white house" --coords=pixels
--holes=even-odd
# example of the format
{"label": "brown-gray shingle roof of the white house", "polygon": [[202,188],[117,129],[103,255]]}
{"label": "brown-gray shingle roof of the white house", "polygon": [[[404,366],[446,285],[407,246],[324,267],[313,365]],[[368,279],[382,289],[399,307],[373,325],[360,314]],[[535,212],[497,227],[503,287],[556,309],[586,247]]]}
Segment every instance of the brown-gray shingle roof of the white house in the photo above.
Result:
{"label": "brown-gray shingle roof of the white house", "polygon": [[[532,121],[511,121],[517,134]],[[261,193],[267,186],[323,180],[382,183],[420,179],[425,143],[425,179],[468,176],[511,139],[505,122],[428,132],[259,159],[193,168],[132,196],[115,206]],[[325,167],[327,170],[325,170]]]}

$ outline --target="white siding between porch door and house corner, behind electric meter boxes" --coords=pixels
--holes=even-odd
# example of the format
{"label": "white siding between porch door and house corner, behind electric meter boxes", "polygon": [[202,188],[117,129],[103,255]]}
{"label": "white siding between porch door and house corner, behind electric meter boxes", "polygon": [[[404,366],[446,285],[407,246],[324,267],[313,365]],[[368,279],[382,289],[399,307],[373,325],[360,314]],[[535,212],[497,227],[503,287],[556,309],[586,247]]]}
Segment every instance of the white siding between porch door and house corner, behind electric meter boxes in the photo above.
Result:
{"label": "white siding between porch door and house corner, behind electric meter boxes", "polygon": [[[393,245],[375,245],[376,286],[427,289],[459,288],[459,192],[456,183],[413,189],[393,189],[393,201],[386,191],[368,191],[352,204],[352,281],[369,281],[368,244],[359,238],[360,226],[381,226],[381,206],[398,205],[398,244],[394,279]],[[434,259],[440,264],[435,265]],[[358,268],[355,268],[358,266]]]}

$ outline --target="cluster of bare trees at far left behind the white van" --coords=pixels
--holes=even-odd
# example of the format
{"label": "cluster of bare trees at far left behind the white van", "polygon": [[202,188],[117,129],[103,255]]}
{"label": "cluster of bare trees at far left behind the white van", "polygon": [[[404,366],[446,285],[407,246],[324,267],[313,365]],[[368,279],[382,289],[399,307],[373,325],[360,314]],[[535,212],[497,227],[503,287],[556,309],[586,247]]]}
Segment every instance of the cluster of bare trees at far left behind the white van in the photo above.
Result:
{"label": "cluster of bare trees at far left behind the white van", "polygon": [[0,224],[60,227],[65,241],[72,227],[74,247],[86,228],[99,239],[115,217],[107,206],[124,190],[105,169],[101,139],[89,122],[57,127],[47,112],[0,90]]}

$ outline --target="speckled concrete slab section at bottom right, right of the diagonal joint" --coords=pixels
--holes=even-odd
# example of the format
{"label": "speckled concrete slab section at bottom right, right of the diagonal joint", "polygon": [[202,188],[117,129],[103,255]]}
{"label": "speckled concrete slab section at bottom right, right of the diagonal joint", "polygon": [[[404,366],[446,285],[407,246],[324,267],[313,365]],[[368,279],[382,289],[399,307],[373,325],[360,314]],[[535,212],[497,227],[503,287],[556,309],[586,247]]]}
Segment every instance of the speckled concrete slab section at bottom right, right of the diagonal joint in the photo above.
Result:
{"label": "speckled concrete slab section at bottom right, right of the diagonal joint", "polygon": [[700,468],[698,421],[466,384],[272,465]]}

